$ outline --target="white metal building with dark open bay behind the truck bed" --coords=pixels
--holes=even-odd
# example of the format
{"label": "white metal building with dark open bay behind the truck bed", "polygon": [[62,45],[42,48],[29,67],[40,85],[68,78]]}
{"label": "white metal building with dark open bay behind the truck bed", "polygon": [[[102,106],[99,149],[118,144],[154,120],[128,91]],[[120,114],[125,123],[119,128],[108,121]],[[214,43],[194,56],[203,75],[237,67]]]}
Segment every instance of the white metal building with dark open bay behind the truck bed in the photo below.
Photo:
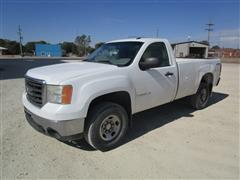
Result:
{"label": "white metal building with dark open bay behind the truck bed", "polygon": [[208,45],[197,41],[188,41],[172,44],[176,57],[207,58]]}

